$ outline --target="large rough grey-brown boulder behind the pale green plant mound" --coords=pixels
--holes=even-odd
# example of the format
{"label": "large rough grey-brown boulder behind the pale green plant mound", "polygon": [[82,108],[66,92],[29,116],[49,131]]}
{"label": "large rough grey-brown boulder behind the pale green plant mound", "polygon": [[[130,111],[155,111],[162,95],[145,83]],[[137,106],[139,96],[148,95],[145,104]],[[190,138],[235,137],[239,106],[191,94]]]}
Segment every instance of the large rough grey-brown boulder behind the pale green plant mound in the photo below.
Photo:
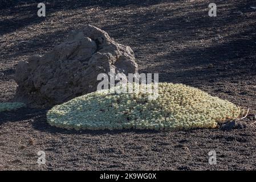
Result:
{"label": "large rough grey-brown boulder behind the pale green plant mound", "polygon": [[68,39],[44,56],[32,56],[18,63],[16,101],[53,106],[94,92],[97,75],[137,72],[132,49],[116,43],[95,26],[72,31]]}

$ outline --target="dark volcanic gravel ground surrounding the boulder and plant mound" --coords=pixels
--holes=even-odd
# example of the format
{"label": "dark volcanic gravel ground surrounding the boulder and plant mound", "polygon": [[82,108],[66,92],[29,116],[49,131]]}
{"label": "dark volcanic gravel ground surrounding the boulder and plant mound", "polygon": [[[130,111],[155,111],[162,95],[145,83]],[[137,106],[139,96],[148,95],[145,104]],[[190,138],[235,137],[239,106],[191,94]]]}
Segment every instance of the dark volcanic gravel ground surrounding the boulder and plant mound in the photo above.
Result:
{"label": "dark volcanic gravel ground surrounding the boulder and plant mound", "polygon": [[[2,170],[255,170],[256,6],[253,1],[21,1],[0,11],[0,102],[12,101],[15,65],[43,55],[90,23],[135,51],[141,73],[183,83],[250,108],[242,127],[177,132],[68,131],[46,122],[47,109],[0,113]],[[217,152],[209,165],[208,152]],[[38,151],[46,165],[38,166]]]}

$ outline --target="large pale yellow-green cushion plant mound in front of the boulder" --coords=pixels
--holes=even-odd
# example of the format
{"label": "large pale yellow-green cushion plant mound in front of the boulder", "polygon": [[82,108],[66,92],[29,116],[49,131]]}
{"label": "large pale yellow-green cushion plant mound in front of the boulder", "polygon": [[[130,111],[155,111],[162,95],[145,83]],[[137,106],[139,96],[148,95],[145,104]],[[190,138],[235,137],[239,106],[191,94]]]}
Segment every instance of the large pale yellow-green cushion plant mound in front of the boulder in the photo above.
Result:
{"label": "large pale yellow-green cushion plant mound in front of the boulder", "polygon": [[52,126],[66,129],[214,128],[217,122],[238,118],[241,109],[182,84],[159,84],[159,97],[148,94],[111,94],[101,90],[54,106],[47,113]]}

